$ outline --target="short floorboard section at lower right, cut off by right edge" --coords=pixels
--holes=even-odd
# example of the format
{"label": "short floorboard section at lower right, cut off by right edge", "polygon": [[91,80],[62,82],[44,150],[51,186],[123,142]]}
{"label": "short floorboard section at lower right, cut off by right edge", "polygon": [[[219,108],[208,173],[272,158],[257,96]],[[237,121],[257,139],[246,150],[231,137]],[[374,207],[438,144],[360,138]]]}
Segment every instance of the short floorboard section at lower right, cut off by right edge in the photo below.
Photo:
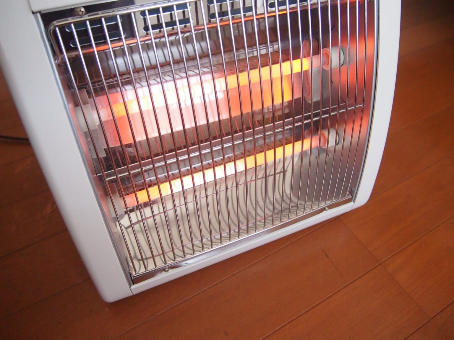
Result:
{"label": "short floorboard section at lower right, cut off by right edge", "polygon": [[429,317],[454,300],[454,218],[383,266]]}

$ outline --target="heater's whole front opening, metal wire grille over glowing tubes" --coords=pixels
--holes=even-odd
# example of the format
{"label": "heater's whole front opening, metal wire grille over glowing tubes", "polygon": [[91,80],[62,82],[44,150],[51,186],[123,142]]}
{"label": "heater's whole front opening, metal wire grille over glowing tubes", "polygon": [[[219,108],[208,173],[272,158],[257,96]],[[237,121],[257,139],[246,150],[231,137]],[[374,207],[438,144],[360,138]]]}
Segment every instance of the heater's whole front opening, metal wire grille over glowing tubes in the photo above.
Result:
{"label": "heater's whole front opening, metal wire grille over glowing tubes", "polygon": [[352,198],[375,26],[359,0],[111,5],[49,24],[133,280]]}

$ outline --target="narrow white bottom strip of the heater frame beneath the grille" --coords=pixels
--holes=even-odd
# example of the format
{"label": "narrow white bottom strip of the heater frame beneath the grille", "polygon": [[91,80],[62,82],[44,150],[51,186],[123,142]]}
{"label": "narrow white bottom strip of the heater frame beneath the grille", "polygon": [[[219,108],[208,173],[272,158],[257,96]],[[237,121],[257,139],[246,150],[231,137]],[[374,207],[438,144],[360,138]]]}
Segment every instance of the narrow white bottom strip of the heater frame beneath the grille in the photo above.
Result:
{"label": "narrow white bottom strip of the heater frame beneath the grille", "polygon": [[[226,260],[227,258],[236,256],[238,254],[247,252],[248,250],[260,247],[264,245],[265,243],[269,243],[272,241],[277,240],[278,238],[282,238],[284,236],[290,235],[291,233],[296,233],[297,231],[300,231],[304,228],[308,228],[314,224],[326,221],[327,219],[331,219],[333,217],[336,217],[337,215],[344,214],[350,209],[352,209],[353,203],[345,204],[340,207],[336,207],[334,209],[330,209],[328,211],[324,211],[321,214],[318,214],[316,216],[313,216],[309,219],[303,220],[299,223],[295,223],[291,226],[288,226],[286,228],[282,228],[280,230],[276,230],[275,232],[265,234],[262,237],[258,237],[256,239],[251,240],[250,242],[240,244],[237,247],[226,249],[222,253],[218,253],[214,256],[207,257],[203,260],[193,262],[191,264],[188,264],[183,267],[178,267],[175,269],[170,269],[168,272],[161,272],[155,277],[152,277],[146,281],[137,283],[133,286],[131,286],[131,291],[133,294],[140,293],[141,291],[145,291],[149,288],[156,287],[158,285],[161,285],[165,282],[172,281],[178,277],[182,277],[184,275],[187,275],[191,272],[195,272],[196,270],[211,266],[214,263],[221,262],[223,260]],[[297,254],[295,254],[297,255]]]}

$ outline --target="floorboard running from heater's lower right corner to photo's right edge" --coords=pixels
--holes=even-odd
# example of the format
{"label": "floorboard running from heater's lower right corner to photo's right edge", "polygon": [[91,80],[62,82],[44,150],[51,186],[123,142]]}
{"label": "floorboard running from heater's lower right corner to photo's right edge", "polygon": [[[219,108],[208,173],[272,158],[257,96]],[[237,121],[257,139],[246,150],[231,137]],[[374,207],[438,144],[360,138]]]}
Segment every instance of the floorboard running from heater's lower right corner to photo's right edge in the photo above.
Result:
{"label": "floorboard running from heater's lower right corner to photo's right edge", "polygon": [[341,220],[383,261],[454,214],[454,154],[431,165]]}

